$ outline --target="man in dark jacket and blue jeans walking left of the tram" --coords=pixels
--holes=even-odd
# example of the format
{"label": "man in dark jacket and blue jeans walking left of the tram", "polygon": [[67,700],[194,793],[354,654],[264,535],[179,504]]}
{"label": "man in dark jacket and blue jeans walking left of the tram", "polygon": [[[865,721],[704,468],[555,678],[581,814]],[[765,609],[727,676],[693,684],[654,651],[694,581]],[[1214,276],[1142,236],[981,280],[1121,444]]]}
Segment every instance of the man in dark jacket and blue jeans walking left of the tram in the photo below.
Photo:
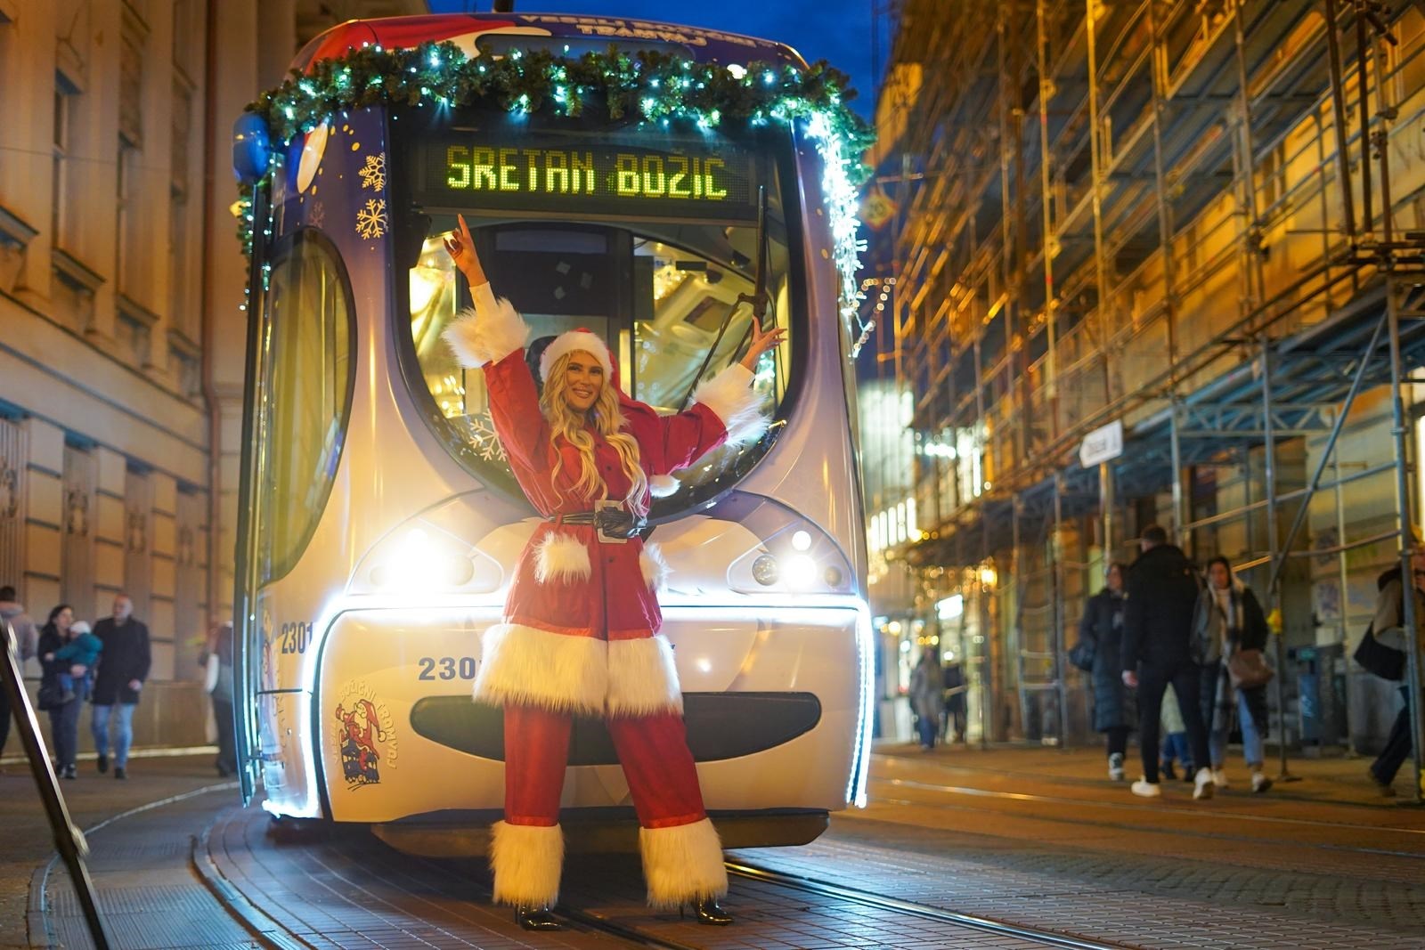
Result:
{"label": "man in dark jacket and blue jeans walking left of the tram", "polygon": [[[90,729],[98,771],[108,771],[110,716],[117,712],[113,729],[114,778],[128,778],[128,746],[134,741],[134,706],[148,679],[148,627],[134,620],[134,602],[128,594],[114,597],[114,615],[94,624],[94,635],[104,642],[100,654],[98,677],[94,679],[94,715]],[[117,709],[115,709],[117,706]]]}

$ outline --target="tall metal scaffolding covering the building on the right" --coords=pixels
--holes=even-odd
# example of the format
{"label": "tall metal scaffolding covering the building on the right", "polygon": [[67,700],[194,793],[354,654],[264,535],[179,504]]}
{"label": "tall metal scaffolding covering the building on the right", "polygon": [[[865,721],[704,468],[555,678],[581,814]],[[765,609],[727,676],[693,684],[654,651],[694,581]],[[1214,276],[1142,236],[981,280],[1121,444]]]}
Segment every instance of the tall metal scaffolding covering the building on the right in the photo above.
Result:
{"label": "tall metal scaffolding covering the building on the right", "polygon": [[[928,601],[976,604],[980,738],[1084,734],[1064,631],[1160,521],[1280,610],[1285,773],[1284,649],[1364,630],[1364,571],[1409,577],[1425,17],[1371,0],[893,16],[882,114],[898,81],[905,114],[881,181],[926,528],[898,554]],[[1109,424],[1123,454],[1086,467]]]}

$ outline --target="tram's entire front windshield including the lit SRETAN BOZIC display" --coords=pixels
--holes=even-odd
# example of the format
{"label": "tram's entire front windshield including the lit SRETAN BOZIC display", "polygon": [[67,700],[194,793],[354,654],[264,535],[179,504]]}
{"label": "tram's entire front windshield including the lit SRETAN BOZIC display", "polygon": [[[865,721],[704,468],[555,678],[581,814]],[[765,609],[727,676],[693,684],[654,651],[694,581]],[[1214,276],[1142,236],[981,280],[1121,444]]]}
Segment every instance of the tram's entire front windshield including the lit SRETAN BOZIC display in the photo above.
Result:
{"label": "tram's entire front windshield including the lit SRETAN BOZIC display", "polygon": [[[775,416],[789,382],[792,313],[801,306],[791,254],[797,235],[784,212],[795,208],[794,191],[784,202],[789,137],[522,128],[506,145],[502,128],[443,128],[405,150],[410,205],[418,222],[429,219],[416,225],[412,249],[422,231],[423,239],[398,310],[415,370],[406,376],[472,474],[519,497],[490,424],[483,372],[462,370],[440,339],[469,305],[469,288],[442,246],[457,212],[494,292],[523,313],[532,342],[594,330],[608,340],[624,390],[664,413],[691,404],[698,379],[741,356],[761,276],[765,326],[788,329],[788,343],[762,357],[754,382],[764,412]],[[653,514],[728,487],[768,444],[704,456],[677,473],[678,490]]]}

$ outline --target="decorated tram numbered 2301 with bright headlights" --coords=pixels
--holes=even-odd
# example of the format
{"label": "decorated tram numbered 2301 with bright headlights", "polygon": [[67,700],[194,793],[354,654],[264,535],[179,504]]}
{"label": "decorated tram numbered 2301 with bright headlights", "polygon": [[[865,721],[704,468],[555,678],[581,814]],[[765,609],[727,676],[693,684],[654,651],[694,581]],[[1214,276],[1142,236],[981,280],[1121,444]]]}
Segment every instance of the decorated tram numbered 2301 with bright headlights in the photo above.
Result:
{"label": "decorated tram numbered 2301 with bright headlights", "polygon": [[[489,61],[613,40],[732,70],[805,66],[777,43],[646,23],[611,36],[610,23],[630,21],[351,21],[295,70],[432,40]],[[650,516],[670,568],[663,632],[728,846],[805,843],[862,802],[872,644],[851,340],[805,131],[378,105],[272,148],[238,524],[244,798],[261,785],[275,816],[369,823],[412,850],[499,818],[502,712],[470,687],[539,518],[482,372],[440,339],[469,302],[442,248],[462,214],[532,339],[593,329],[626,390],[660,410],[737,359],[765,291],[765,319],[788,330],[754,383],[771,429],[677,473]],[[630,802],[607,732],[576,721],[571,842],[633,829]]]}

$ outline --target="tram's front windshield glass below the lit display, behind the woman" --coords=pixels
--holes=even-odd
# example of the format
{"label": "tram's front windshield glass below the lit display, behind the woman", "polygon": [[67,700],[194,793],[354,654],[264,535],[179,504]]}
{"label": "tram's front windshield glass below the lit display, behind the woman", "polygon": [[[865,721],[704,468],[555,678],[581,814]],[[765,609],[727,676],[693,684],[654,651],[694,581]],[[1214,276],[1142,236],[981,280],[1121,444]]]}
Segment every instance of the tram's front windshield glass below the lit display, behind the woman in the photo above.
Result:
{"label": "tram's front windshield glass below the lit display, behind the woman", "polygon": [[[462,370],[440,332],[456,316],[456,278],[436,234],[410,275],[410,339],[447,444],[486,483],[522,497],[494,436],[483,370]],[[772,232],[777,234],[772,234]],[[509,295],[530,325],[530,339],[587,328],[610,343],[620,382],[661,413],[684,406],[700,369],[712,377],[734,362],[752,313],[757,228],[641,222],[624,228],[520,224],[476,238],[494,289]],[[782,228],[768,229],[768,322],[791,320],[789,255]],[[462,288],[463,292],[463,288]],[[711,350],[711,353],[710,353]],[[771,414],[788,382],[788,346],[762,357],[754,389]],[[688,400],[691,402],[691,400]],[[435,416],[435,413],[432,413]],[[681,510],[745,474],[765,446],[725,444],[677,473],[681,489],[654,514]]]}

